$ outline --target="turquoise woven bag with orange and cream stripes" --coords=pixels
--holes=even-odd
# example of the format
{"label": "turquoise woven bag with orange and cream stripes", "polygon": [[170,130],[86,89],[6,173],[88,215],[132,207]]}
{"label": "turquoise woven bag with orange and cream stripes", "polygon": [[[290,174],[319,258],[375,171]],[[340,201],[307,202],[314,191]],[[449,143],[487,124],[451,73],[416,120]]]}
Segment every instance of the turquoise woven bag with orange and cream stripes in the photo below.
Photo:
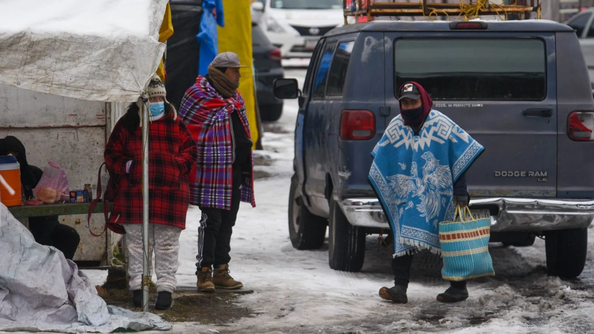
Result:
{"label": "turquoise woven bag with orange and cream stripes", "polygon": [[491,219],[474,219],[470,209],[456,208],[451,222],[440,223],[441,276],[447,281],[466,281],[482,276],[495,276],[489,254]]}

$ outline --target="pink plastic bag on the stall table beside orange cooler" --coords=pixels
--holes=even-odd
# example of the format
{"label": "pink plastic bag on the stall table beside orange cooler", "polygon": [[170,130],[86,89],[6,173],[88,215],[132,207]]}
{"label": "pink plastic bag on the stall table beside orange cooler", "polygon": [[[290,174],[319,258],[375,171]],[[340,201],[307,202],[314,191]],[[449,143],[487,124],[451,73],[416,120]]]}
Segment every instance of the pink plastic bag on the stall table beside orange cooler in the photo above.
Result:
{"label": "pink plastic bag on the stall table beside orange cooler", "polygon": [[69,188],[66,172],[55,162],[48,162],[43,175],[33,189],[34,196],[45,204],[63,203],[68,200]]}

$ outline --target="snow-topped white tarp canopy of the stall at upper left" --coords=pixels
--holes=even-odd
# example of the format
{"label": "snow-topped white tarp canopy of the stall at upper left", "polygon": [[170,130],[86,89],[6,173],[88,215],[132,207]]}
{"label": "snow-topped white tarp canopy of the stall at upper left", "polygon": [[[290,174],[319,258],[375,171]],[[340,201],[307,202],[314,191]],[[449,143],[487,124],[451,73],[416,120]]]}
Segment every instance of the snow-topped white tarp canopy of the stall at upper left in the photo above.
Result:
{"label": "snow-topped white tarp canopy of the stall at upper left", "polygon": [[0,83],[134,102],[159,66],[168,0],[0,0]]}

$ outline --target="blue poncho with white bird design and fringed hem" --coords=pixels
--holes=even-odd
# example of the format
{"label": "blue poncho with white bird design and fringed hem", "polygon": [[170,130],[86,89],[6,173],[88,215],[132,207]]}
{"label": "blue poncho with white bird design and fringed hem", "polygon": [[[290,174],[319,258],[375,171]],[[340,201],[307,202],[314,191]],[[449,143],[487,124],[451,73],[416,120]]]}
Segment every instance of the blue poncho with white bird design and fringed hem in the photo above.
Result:
{"label": "blue poncho with white bird design and fringed hem", "polygon": [[450,118],[431,109],[419,136],[401,115],[375,146],[369,181],[394,233],[394,257],[440,253],[439,223],[454,217],[454,181],[484,147]]}

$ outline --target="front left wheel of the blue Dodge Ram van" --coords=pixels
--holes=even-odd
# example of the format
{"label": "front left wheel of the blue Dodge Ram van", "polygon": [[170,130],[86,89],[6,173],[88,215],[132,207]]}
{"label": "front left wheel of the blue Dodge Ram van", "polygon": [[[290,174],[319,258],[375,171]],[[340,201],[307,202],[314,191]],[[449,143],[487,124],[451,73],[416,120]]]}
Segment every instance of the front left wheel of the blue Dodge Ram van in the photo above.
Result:
{"label": "front left wheel of the blue Dodge Ram van", "polygon": [[289,237],[298,250],[315,250],[324,245],[328,219],[316,216],[303,205],[296,175],[289,191]]}

